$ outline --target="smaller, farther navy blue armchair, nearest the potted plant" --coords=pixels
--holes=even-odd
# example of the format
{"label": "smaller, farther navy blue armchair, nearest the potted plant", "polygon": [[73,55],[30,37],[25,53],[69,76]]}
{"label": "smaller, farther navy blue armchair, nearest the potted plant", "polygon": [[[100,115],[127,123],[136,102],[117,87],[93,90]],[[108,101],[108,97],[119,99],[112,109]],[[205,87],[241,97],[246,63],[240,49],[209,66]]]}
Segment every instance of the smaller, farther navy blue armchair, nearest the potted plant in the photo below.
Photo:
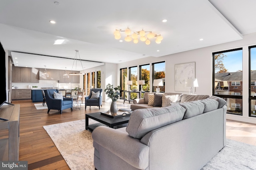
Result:
{"label": "smaller, farther navy blue armchair, nearest the potted plant", "polygon": [[[100,91],[100,96],[98,99],[91,99],[92,91],[95,93]],[[99,109],[100,109],[100,106],[102,107],[102,89],[101,88],[92,88],[90,90],[89,96],[85,97],[85,109],[86,109],[86,106],[90,106],[90,107],[99,106]]]}

